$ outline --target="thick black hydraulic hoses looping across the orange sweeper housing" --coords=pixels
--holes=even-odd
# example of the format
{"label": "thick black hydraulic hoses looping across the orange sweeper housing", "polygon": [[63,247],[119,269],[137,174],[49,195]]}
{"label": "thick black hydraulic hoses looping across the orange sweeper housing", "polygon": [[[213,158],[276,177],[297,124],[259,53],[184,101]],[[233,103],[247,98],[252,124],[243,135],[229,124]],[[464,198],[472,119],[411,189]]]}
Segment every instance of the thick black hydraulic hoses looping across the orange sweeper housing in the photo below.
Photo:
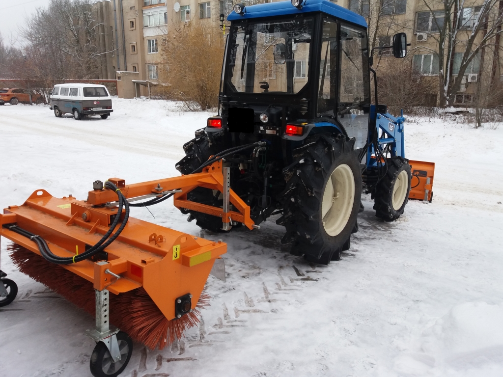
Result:
{"label": "thick black hydraulic hoses looping across the orange sweeper housing", "polygon": [[[70,264],[88,259],[93,255],[99,253],[100,251],[103,251],[106,247],[108,247],[119,236],[119,234],[121,234],[129,219],[129,203],[126,200],[126,197],[124,197],[121,191],[112,182],[106,181],[105,187],[107,187],[107,189],[114,190],[119,198],[119,208],[117,209],[117,215],[115,216],[115,219],[110,225],[110,228],[108,229],[107,233],[105,233],[105,235],[100,239],[100,241],[98,241],[94,246],[92,246],[90,249],[86,250],[82,254],[78,255],[75,254],[73,257],[62,257],[56,255],[49,249],[47,242],[45,242],[45,240],[42,237],[35,235],[27,230],[24,230],[18,227],[17,225],[4,225],[4,227],[12,230],[13,232],[21,234],[22,236],[28,237],[32,241],[34,241],[37,244],[38,249],[40,250],[42,256],[49,262],[56,264]],[[117,229],[117,231],[112,235],[112,232],[117,226],[120,216],[122,214],[122,207],[125,208],[124,219],[122,220],[122,223]],[[110,235],[112,236],[110,237]]]}

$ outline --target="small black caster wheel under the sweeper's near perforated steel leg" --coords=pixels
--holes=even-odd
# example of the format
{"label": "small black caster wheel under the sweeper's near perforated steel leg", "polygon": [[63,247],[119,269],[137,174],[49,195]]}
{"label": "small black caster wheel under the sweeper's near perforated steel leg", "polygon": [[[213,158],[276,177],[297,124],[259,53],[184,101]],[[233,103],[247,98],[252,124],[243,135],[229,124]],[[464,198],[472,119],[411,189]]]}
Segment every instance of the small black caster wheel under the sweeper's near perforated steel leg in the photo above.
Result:
{"label": "small black caster wheel under the sweeper's near perforated steel leg", "polygon": [[112,356],[105,343],[98,342],[96,344],[89,362],[91,373],[95,377],[115,377],[126,368],[133,353],[133,341],[125,332],[119,331],[117,342],[121,353],[121,359],[117,362],[112,361]]}

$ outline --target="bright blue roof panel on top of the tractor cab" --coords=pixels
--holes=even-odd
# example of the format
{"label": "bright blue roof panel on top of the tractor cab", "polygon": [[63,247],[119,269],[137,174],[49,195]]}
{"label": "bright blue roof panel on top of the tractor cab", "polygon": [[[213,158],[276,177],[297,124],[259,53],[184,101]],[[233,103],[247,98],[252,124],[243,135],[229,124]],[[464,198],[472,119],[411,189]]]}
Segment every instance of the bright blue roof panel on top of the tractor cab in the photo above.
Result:
{"label": "bright blue roof panel on top of the tractor cab", "polygon": [[227,20],[234,21],[259,17],[286,16],[308,12],[323,12],[330,16],[367,28],[367,22],[362,16],[351,12],[346,8],[340,7],[337,4],[333,4],[328,0],[305,0],[304,6],[300,10],[295,8],[290,1],[258,4],[245,7],[243,16],[240,16],[236,12],[232,11],[232,13],[227,17]]}

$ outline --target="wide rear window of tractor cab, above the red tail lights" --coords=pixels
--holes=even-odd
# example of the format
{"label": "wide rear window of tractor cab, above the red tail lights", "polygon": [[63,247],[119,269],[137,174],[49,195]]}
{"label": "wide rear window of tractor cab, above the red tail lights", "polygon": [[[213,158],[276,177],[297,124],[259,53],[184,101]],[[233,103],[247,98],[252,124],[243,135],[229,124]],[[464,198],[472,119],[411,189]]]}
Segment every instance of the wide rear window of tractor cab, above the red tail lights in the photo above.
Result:
{"label": "wide rear window of tractor cab, above the red tail lights", "polygon": [[312,18],[234,26],[227,84],[241,93],[298,93],[307,84],[312,32]]}

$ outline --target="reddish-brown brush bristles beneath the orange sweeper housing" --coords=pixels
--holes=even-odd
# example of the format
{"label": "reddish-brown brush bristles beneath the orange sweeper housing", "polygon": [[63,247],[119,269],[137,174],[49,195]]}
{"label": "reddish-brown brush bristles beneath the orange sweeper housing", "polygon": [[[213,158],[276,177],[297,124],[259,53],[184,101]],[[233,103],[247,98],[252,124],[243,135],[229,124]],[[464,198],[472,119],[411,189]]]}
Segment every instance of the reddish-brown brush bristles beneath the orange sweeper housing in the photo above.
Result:
{"label": "reddish-brown brush bristles beneath the orange sweeper housing", "polygon": [[[21,272],[95,316],[95,290],[92,282],[46,261],[18,244],[10,244],[7,248]],[[197,308],[208,306],[209,298],[203,291]],[[162,349],[175,339],[181,339],[185,330],[197,326],[201,318],[201,313],[195,309],[180,319],[166,319],[143,288],[110,295],[110,308],[112,323],[134,341],[143,343],[150,349]]]}

